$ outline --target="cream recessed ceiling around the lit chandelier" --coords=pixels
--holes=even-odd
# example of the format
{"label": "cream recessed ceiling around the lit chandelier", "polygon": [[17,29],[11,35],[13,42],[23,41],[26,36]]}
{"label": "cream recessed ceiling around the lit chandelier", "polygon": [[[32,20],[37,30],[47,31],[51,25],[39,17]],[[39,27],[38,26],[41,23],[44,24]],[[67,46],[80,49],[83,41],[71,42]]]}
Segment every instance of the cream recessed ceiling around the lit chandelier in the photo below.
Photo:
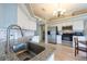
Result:
{"label": "cream recessed ceiling around the lit chandelier", "polygon": [[[87,13],[87,3],[31,3],[30,7],[35,16],[44,20],[55,20]],[[53,15],[54,11],[59,9],[65,10],[63,15]]]}

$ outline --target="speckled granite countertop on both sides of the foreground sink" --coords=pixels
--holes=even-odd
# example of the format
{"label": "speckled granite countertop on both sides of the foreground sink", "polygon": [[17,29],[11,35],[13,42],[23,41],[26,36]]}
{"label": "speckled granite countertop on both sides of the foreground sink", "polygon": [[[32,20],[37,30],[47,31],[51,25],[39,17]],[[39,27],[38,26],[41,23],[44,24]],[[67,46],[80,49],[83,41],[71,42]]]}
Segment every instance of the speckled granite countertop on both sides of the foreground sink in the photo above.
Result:
{"label": "speckled granite countertop on both sides of the foreground sink", "polygon": [[[51,54],[53,54],[53,52],[55,51],[55,46],[52,43],[40,42],[37,44],[45,47],[45,50],[29,61],[46,61],[51,56]],[[0,60],[2,60],[2,61],[20,61],[17,57],[15,53],[10,53],[10,55],[3,54],[0,56]]]}

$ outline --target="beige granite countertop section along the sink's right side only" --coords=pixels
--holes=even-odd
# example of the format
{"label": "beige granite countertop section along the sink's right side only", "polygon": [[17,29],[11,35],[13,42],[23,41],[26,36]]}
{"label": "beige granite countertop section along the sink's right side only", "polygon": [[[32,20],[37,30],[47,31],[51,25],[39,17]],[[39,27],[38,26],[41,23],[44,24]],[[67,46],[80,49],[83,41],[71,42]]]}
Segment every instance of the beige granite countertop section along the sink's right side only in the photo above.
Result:
{"label": "beige granite countertop section along the sink's right side only", "polygon": [[51,43],[39,43],[40,46],[45,47],[45,50],[40,54],[31,59],[30,61],[46,61],[51,54],[55,51],[55,46]]}

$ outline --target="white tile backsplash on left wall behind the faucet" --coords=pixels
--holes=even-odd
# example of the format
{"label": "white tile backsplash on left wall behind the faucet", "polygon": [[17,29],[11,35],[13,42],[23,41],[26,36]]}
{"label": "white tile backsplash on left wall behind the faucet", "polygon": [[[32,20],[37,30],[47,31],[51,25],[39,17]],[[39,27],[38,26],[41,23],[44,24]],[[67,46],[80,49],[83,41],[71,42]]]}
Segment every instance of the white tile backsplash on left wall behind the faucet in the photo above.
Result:
{"label": "white tile backsplash on left wall behind the faucet", "polygon": [[[28,29],[23,29],[22,31],[24,36],[34,36],[35,33],[34,30],[28,30]],[[11,39],[13,38],[18,39],[22,37],[20,30],[17,29],[11,29],[10,35],[12,35],[10,36]],[[0,29],[0,41],[3,41],[6,39],[7,39],[7,29]]]}

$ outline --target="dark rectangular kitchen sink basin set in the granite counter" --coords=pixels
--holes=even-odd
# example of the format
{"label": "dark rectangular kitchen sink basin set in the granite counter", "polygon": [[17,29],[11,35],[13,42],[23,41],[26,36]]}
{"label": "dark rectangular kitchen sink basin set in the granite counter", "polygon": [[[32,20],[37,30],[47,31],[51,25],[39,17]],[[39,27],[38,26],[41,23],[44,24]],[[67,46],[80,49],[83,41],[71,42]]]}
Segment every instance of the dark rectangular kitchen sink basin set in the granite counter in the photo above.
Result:
{"label": "dark rectangular kitchen sink basin set in the granite counter", "polygon": [[45,48],[42,46],[26,42],[26,49],[22,49],[21,51],[15,52],[15,54],[20,61],[29,61],[44,50]]}

